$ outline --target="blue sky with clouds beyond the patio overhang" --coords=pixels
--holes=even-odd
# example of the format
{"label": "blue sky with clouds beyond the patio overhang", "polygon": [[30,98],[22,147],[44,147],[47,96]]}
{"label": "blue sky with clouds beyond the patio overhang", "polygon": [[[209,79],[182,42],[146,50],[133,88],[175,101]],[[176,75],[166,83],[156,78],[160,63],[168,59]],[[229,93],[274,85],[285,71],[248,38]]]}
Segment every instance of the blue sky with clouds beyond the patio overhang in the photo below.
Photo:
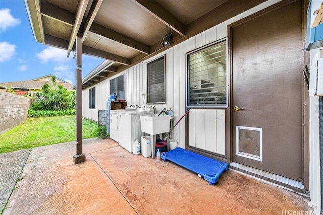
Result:
{"label": "blue sky with clouds beyond the patio overhang", "polygon": [[[23,0],[0,0],[0,83],[37,79],[47,75],[75,85],[74,53],[36,42]],[[83,54],[82,77],[101,58]]]}

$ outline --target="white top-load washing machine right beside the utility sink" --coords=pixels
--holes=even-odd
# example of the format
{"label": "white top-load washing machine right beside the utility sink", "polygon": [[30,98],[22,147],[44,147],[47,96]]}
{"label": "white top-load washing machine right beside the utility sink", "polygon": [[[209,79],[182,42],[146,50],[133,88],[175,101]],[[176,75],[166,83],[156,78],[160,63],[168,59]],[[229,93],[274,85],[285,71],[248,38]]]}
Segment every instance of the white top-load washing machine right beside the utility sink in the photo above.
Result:
{"label": "white top-load washing machine right beside the utility sink", "polygon": [[121,111],[119,113],[119,145],[133,153],[133,144],[141,140],[140,115],[153,114],[153,107],[142,105],[136,111]]}

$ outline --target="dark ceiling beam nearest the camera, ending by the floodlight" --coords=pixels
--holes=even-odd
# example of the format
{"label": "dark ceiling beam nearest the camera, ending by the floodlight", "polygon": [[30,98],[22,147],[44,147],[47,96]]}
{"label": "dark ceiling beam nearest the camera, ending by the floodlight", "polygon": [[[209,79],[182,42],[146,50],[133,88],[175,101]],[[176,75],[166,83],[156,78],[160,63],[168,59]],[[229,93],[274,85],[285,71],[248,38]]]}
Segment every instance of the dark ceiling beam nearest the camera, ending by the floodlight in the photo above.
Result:
{"label": "dark ceiling beam nearest the camera, ending by the floodlight", "polygon": [[185,25],[156,1],[136,0],[134,2],[183,37],[186,35]]}

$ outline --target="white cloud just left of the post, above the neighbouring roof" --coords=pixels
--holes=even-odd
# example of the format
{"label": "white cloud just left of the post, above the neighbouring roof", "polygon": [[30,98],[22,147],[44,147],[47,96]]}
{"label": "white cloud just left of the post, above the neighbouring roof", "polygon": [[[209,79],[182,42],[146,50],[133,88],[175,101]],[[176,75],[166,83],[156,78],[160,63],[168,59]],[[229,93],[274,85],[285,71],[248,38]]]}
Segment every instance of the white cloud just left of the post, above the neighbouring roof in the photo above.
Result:
{"label": "white cloud just left of the post, above the neighbouring roof", "polygon": [[36,55],[43,63],[47,62],[48,60],[53,60],[56,62],[66,62],[69,60],[66,50],[54,47],[45,48],[41,52],[36,53]]}

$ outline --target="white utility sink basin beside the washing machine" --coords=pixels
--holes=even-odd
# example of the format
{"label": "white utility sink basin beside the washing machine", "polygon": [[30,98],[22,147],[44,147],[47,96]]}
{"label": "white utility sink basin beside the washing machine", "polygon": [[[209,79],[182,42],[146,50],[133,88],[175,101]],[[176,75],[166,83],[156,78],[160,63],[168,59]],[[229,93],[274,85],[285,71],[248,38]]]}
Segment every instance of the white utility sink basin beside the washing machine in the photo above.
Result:
{"label": "white utility sink basin beside the washing machine", "polygon": [[171,116],[157,115],[158,114],[140,116],[141,132],[155,135],[170,131]]}

